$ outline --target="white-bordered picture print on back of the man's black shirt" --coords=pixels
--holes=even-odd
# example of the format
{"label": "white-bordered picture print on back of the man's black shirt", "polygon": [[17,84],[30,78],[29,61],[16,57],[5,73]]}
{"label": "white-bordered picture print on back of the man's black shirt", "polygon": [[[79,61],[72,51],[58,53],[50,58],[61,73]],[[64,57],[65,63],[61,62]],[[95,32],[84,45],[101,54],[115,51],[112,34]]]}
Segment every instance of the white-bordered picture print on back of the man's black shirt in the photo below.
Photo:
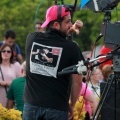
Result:
{"label": "white-bordered picture print on back of the man's black shirt", "polygon": [[33,42],[30,54],[30,72],[56,78],[62,48]]}

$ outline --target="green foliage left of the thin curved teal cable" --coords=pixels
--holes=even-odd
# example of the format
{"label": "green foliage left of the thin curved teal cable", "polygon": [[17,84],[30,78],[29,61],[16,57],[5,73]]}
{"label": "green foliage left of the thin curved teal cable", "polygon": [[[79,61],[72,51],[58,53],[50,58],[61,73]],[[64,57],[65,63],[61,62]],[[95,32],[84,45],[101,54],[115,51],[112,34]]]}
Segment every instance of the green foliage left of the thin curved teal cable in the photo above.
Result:
{"label": "green foliage left of the thin curved teal cable", "polygon": [[[23,56],[25,54],[26,37],[29,33],[35,31],[34,19],[39,3],[39,0],[0,1],[0,40],[3,40],[7,29],[15,30],[17,33],[16,43],[20,45]],[[38,9],[38,13],[41,15],[44,13],[42,7]],[[44,7],[44,10],[46,8]],[[44,18],[44,16],[41,18]]]}

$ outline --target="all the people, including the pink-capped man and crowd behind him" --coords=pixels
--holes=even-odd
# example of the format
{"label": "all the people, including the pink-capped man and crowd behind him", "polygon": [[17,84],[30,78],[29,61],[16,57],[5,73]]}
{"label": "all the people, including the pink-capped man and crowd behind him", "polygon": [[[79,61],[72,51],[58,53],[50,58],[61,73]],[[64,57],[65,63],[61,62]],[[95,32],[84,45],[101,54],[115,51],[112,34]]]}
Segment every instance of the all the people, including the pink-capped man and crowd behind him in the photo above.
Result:
{"label": "all the people, including the pink-capped man and crowd behind him", "polygon": [[[85,120],[90,120],[100,100],[100,83],[113,74],[109,61],[93,69],[89,79],[76,73],[58,76],[64,68],[91,58],[91,51],[82,53],[67,39],[83,27],[80,20],[72,24],[71,12],[57,5],[47,10],[45,22],[37,22],[36,31],[27,36],[25,60],[14,30],[7,30],[0,42],[0,104],[21,111],[23,120],[72,120],[80,96]],[[100,54],[109,51],[103,46]]]}

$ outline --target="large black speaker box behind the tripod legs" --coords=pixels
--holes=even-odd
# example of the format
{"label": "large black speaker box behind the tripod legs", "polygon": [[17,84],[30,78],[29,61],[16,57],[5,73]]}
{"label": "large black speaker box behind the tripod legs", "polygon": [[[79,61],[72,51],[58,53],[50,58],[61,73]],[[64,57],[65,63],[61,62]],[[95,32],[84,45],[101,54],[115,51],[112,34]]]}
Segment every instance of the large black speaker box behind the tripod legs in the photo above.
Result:
{"label": "large black speaker box behind the tripod legs", "polygon": [[[106,82],[100,84],[101,95],[106,86]],[[107,97],[100,111],[101,120],[120,120],[120,82],[112,83]]]}

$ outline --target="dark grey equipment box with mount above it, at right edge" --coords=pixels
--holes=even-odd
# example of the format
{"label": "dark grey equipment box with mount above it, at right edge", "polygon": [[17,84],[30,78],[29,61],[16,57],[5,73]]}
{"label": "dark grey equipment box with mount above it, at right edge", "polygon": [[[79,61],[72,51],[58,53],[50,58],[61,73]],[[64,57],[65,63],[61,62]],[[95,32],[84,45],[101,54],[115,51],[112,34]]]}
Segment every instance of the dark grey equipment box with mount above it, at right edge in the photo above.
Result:
{"label": "dark grey equipment box with mount above it, at right edge", "polygon": [[120,46],[120,21],[111,22],[111,11],[107,11],[101,25],[101,34],[107,48],[115,49]]}

